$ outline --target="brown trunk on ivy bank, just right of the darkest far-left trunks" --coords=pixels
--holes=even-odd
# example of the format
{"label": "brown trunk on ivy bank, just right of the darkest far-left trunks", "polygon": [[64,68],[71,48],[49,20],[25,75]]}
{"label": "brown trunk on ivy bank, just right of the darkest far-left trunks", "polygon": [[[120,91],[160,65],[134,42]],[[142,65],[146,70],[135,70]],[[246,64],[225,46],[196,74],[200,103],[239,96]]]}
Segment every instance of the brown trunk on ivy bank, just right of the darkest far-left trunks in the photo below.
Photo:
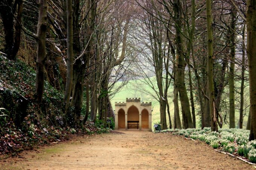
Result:
{"label": "brown trunk on ivy bank, just right of the darkest far-left trunks", "polygon": [[37,62],[36,62],[36,94],[39,103],[44,92],[44,63],[46,60],[46,29],[47,29],[47,0],[39,0],[39,16],[37,24]]}

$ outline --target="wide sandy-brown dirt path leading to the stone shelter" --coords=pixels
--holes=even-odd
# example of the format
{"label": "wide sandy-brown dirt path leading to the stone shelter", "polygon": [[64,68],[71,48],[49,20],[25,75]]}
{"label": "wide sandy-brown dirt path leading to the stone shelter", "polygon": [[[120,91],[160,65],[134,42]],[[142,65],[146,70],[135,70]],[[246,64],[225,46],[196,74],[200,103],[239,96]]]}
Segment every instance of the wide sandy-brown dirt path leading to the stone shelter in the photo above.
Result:
{"label": "wide sandy-brown dirt path leading to the stone shelter", "polygon": [[0,169],[255,169],[200,141],[146,131],[119,132],[23,152],[23,158],[1,161]]}

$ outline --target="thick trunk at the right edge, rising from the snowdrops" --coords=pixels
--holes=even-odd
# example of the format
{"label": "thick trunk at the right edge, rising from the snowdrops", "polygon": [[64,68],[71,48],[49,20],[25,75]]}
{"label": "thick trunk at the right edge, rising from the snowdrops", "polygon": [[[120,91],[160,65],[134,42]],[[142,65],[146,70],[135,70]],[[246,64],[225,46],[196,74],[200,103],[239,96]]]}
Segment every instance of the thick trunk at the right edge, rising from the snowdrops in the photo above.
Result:
{"label": "thick trunk at the right edge, rising from the snowdrops", "polygon": [[247,56],[249,68],[251,129],[249,140],[256,139],[256,0],[247,0]]}

